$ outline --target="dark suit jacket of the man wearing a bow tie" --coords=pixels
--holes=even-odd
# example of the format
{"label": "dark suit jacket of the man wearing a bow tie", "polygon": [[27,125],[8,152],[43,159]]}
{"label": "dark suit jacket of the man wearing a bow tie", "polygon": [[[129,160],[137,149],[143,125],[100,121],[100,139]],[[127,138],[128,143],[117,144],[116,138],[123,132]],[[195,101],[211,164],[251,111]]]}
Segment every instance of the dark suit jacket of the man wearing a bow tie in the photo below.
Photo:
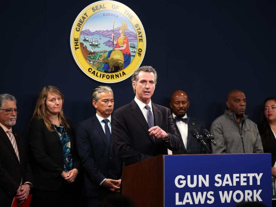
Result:
{"label": "dark suit jacket of the man wearing a bow tie", "polygon": [[[181,147],[179,148],[178,151],[173,151],[173,154],[205,154],[205,153],[208,154],[209,153],[208,149],[206,149],[206,152],[204,152],[204,146],[201,143],[198,143],[196,141],[196,138],[194,138],[190,133],[192,129],[195,129],[200,134],[202,129],[206,128],[205,123],[203,121],[190,117],[190,120],[188,123],[187,147],[185,147],[183,144],[183,140],[182,140],[180,131],[177,127],[177,124],[175,122],[175,119],[173,119],[173,123],[175,124],[177,134],[179,134],[181,139]],[[210,143],[206,143],[206,144],[210,149]]]}

